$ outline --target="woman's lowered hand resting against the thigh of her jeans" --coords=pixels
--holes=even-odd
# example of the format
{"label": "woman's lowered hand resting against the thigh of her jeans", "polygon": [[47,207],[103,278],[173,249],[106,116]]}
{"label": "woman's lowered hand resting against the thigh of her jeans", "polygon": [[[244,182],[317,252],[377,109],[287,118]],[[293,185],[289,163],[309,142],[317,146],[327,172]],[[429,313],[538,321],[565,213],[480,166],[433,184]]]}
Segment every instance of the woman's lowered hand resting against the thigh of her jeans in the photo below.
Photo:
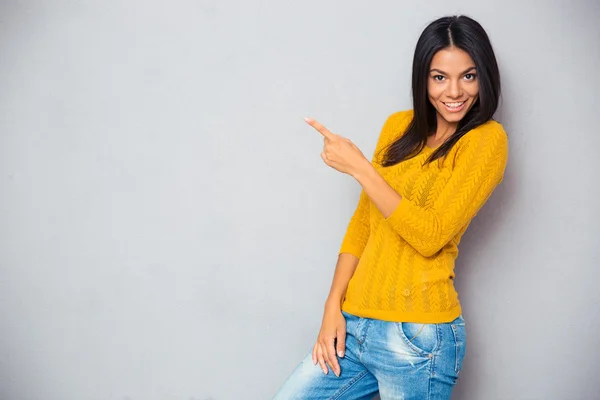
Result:
{"label": "woman's lowered hand resting against the thigh of her jeans", "polygon": [[312,351],[313,364],[317,365],[318,362],[324,374],[328,373],[327,366],[329,365],[333,373],[340,376],[340,364],[337,357],[344,357],[345,350],[346,318],[342,314],[339,303],[326,305],[321,331]]}

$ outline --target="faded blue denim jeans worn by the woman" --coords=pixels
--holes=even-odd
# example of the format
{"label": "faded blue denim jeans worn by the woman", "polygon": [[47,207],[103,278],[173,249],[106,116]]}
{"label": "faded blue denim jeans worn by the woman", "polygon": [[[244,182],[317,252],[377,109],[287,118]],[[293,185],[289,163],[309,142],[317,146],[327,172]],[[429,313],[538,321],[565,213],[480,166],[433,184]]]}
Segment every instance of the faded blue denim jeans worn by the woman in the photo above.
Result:
{"label": "faded blue denim jeans worn by the woman", "polygon": [[466,350],[465,321],[416,324],[346,318],[341,373],[323,373],[311,354],[298,365],[274,400],[450,399]]}

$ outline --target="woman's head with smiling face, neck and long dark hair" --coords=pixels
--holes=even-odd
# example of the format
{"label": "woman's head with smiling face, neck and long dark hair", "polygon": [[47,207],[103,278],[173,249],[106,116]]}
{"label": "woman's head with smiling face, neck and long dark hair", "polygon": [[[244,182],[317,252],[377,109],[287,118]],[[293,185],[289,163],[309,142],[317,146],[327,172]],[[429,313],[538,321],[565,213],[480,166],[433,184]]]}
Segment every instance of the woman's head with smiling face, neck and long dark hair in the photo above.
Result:
{"label": "woman's head with smiling face, neck and long dark hair", "polygon": [[412,67],[414,118],[386,149],[384,166],[434,148],[428,162],[447,156],[469,131],[492,120],[500,72],[483,27],[465,16],[432,22],[417,41]]}

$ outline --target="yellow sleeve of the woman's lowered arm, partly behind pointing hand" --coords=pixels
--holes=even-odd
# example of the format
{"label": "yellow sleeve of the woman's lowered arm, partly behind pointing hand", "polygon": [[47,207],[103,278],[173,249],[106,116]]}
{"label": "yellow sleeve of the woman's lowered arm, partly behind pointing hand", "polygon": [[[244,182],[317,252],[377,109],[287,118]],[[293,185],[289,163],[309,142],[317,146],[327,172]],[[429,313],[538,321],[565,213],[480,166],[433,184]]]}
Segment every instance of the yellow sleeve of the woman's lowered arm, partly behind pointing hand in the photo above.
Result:
{"label": "yellow sleeve of the woman's lowered arm, partly behind pointing hand", "polygon": [[[410,122],[412,112],[399,111],[390,115],[381,129],[375,152],[373,153],[372,163],[380,163],[384,149],[392,143],[406,128]],[[344,239],[340,248],[340,253],[349,253],[360,258],[367,245],[370,234],[370,204],[371,199],[364,190],[360,193],[358,205],[350,219],[346,229]]]}

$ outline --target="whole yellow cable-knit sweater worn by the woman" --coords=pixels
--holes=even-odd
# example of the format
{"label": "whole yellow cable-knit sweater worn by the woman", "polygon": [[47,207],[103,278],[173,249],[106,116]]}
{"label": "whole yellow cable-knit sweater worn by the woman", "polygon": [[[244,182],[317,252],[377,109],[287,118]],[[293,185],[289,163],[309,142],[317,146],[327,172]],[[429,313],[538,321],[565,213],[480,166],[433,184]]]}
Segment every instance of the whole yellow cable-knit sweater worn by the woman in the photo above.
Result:
{"label": "whole yellow cable-knit sweater worn by the woman", "polygon": [[391,115],[372,164],[401,196],[386,219],[362,191],[340,253],[360,259],[342,309],[395,322],[442,323],[461,314],[454,261],[471,219],[502,181],[508,139],[489,121],[467,132],[450,153],[426,166],[433,149],[392,167],[380,152],[402,135],[412,111]]}

